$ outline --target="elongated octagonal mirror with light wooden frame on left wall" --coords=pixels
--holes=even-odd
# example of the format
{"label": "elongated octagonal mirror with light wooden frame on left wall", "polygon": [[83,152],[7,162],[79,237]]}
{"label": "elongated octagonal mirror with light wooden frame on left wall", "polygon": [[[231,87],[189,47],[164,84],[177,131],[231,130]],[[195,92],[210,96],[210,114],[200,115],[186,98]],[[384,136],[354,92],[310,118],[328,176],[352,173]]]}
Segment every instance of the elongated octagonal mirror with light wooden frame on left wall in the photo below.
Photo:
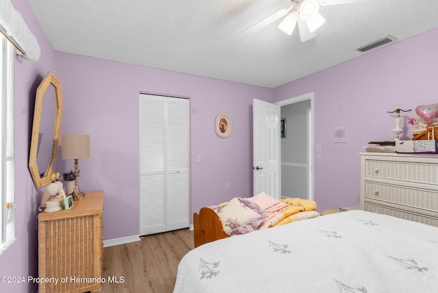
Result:
{"label": "elongated octagonal mirror with light wooden frame on left wall", "polygon": [[51,182],[60,139],[61,116],[61,84],[53,73],[49,73],[36,90],[30,144],[29,170],[37,189]]}

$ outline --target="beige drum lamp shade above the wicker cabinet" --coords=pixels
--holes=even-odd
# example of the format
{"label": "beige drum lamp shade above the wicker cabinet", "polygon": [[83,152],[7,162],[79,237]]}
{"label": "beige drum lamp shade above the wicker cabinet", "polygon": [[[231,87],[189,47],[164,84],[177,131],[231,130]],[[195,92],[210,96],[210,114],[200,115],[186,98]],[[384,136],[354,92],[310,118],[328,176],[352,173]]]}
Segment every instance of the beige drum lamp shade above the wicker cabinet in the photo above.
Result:
{"label": "beige drum lamp shade above the wicker cabinet", "polygon": [[90,157],[88,134],[64,134],[61,136],[62,159],[84,159]]}

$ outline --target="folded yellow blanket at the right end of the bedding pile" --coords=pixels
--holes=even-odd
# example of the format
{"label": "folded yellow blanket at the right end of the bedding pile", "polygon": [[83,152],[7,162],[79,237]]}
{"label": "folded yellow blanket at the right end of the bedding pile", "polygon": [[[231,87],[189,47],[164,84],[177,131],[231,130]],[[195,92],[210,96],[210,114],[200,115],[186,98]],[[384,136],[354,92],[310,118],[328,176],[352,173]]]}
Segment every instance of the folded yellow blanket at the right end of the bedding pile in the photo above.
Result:
{"label": "folded yellow blanket at the right end of the bedding pile", "polygon": [[287,203],[289,207],[287,207],[287,209],[285,209],[284,211],[277,213],[275,216],[264,222],[262,225],[263,228],[285,225],[288,224],[289,222],[293,222],[294,220],[300,220],[300,217],[296,216],[300,212],[309,212],[300,215],[300,216],[305,216],[305,218],[319,215],[318,212],[315,212],[317,207],[315,201],[311,201],[309,199],[300,199],[300,198],[280,199],[280,201],[283,203]]}

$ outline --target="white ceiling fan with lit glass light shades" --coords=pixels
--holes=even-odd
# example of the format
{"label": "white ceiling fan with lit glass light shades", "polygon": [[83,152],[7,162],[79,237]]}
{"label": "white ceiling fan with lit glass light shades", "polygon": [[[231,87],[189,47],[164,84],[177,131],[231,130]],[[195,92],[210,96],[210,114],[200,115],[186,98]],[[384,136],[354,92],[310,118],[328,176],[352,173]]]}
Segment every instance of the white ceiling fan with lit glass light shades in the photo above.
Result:
{"label": "white ceiling fan with lit glass light shades", "polygon": [[325,18],[319,13],[320,5],[337,5],[359,3],[366,0],[291,0],[289,8],[281,9],[259,23],[256,23],[242,34],[252,34],[274,21],[286,16],[279,24],[279,29],[289,36],[292,35],[298,23],[301,42],[311,40],[316,36],[316,30],[325,23]]}

